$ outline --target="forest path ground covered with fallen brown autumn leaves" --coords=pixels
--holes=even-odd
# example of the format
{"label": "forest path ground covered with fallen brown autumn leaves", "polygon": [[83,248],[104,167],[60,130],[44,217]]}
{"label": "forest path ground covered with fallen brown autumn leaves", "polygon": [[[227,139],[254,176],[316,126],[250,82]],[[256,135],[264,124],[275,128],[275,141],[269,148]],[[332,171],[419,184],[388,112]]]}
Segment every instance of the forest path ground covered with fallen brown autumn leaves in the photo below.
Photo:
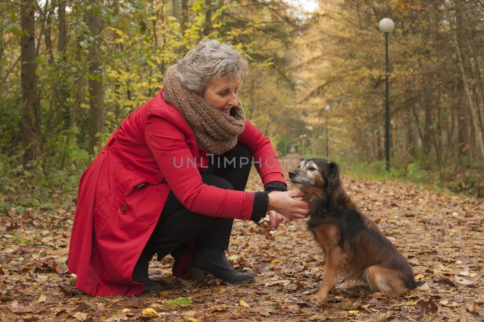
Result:
{"label": "forest path ground covered with fallen brown autumn leaves", "polygon": [[[344,183],[428,292],[393,297],[341,281],[328,300],[309,301],[324,261],[299,220],[269,238],[255,234],[253,223],[236,221],[227,255],[256,275],[254,283],[175,279],[168,256],[150,264],[163,292],[92,297],[76,290],[63,265],[75,206],[61,200],[55,212],[12,205],[0,215],[1,321],[484,321],[482,201],[400,182],[348,177]],[[247,190],[261,188],[253,171]]]}

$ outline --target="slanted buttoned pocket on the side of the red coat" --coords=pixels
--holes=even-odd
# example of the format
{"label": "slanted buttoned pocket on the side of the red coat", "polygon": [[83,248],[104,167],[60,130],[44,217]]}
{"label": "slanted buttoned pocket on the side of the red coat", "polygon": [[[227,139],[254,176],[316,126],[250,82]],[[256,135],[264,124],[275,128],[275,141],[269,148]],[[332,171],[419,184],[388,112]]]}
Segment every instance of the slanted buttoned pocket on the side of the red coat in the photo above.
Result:
{"label": "slanted buttoned pocket on the side of the red coat", "polygon": [[108,191],[106,196],[99,200],[99,203],[94,207],[93,210],[93,222],[94,231],[97,233],[106,224],[109,217],[111,217],[115,212],[122,210],[125,211],[124,205],[124,190],[122,190],[121,185],[116,182],[116,184]]}

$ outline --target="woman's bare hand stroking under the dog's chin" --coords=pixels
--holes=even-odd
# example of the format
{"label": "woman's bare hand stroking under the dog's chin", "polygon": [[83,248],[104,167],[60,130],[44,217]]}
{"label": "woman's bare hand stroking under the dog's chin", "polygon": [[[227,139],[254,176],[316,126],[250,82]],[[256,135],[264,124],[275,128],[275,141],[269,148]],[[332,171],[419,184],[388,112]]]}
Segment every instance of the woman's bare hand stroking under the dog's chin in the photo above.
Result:
{"label": "woman's bare hand stroking under the dog's chin", "polygon": [[309,203],[294,199],[302,196],[304,196],[302,191],[284,191],[269,194],[267,210],[274,210],[289,219],[306,218],[312,211]]}

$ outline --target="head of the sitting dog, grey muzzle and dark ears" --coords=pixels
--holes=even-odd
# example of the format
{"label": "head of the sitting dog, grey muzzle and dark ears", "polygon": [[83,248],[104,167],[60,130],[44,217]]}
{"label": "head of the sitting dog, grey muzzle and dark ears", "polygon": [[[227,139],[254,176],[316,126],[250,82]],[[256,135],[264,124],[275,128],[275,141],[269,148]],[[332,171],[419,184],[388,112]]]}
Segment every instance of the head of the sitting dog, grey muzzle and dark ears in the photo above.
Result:
{"label": "head of the sitting dog, grey muzzle and dark ears", "polygon": [[300,159],[298,167],[289,171],[294,186],[323,199],[327,206],[336,205],[344,194],[340,176],[339,166],[322,158]]}

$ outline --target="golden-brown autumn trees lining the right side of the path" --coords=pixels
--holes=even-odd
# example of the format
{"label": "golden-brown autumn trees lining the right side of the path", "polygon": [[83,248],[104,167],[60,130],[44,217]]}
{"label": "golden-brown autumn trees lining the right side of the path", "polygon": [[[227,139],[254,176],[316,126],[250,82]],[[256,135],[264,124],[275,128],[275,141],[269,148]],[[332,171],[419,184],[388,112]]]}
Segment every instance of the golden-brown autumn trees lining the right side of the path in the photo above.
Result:
{"label": "golden-brown autumn trees lining the right side of the path", "polygon": [[435,176],[484,196],[484,1],[319,3],[299,39],[299,106],[320,143],[321,115],[326,103],[332,107],[330,157],[383,169],[385,46],[378,21],[389,17],[393,176]]}

